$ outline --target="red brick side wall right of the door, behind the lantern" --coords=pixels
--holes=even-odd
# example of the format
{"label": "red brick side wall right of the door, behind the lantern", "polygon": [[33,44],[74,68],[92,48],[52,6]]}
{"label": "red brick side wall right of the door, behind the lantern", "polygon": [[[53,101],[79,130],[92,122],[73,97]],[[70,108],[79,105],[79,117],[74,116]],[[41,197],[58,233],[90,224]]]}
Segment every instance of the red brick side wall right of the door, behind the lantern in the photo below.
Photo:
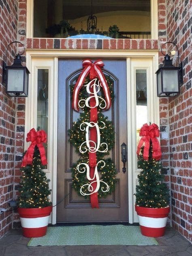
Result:
{"label": "red brick side wall right of the door, behind the lantern", "polygon": [[172,222],[192,241],[192,1],[167,0],[168,41],[179,47],[183,61],[181,93],[169,98]]}

